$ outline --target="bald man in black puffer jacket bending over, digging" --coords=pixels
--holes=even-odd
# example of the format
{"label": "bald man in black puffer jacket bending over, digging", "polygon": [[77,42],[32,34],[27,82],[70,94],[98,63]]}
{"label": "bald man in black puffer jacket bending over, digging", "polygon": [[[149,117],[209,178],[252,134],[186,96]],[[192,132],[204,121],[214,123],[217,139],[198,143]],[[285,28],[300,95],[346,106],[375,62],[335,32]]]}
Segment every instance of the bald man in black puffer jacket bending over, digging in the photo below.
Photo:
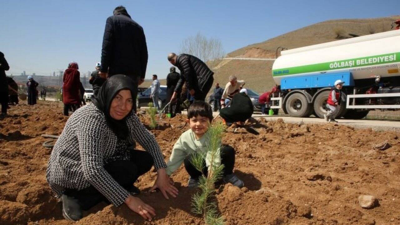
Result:
{"label": "bald man in black puffer jacket bending over, digging", "polygon": [[214,81],[214,72],[202,60],[190,54],[177,56],[175,53],[170,53],[168,61],[180,70],[180,79],[176,84],[171,101],[176,99],[185,81],[190,95],[194,96],[194,100],[204,101]]}

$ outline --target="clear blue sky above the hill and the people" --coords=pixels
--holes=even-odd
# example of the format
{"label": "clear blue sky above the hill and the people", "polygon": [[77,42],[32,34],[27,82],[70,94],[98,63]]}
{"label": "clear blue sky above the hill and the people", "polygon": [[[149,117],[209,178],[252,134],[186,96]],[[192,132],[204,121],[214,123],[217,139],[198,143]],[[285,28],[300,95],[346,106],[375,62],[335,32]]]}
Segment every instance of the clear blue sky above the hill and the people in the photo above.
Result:
{"label": "clear blue sky above the hill and the people", "polygon": [[165,78],[169,52],[198,32],[220,38],[226,53],[248,44],[331,19],[400,14],[398,0],[1,0],[0,51],[8,74],[50,75],[70,61],[81,73],[100,61],[106,18],[123,5],[144,28],[149,62],[146,78]]}

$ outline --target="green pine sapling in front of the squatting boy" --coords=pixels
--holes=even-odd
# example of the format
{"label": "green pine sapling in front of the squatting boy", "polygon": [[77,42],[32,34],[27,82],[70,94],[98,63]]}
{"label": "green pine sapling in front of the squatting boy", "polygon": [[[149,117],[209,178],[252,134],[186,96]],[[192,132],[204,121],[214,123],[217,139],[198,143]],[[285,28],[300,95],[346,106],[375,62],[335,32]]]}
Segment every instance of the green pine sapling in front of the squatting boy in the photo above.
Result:
{"label": "green pine sapling in front of the squatting boy", "polygon": [[208,176],[202,175],[199,179],[200,191],[192,197],[192,211],[196,214],[203,215],[206,225],[223,225],[224,218],[219,215],[216,204],[210,201],[215,193],[214,183],[222,178],[222,169],[224,165],[216,165],[215,160],[220,157],[221,139],[224,133],[224,125],[217,123],[208,129],[208,145],[205,153],[197,151],[190,159],[192,165],[202,172],[205,165],[205,159],[210,161],[208,167]]}

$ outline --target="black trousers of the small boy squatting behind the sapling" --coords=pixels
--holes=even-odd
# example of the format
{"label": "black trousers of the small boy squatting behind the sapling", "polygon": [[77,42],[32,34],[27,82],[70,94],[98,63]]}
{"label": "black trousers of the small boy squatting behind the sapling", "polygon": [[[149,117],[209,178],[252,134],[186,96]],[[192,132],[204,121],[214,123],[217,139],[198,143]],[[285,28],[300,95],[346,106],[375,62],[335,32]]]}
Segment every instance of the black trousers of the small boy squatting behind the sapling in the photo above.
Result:
{"label": "black trousers of the small boy squatting behind the sapling", "polygon": [[[229,145],[223,145],[221,147],[220,154],[221,154],[221,164],[224,165],[223,176],[232,174],[233,167],[235,165],[235,150]],[[195,180],[198,180],[202,174],[207,177],[208,169],[206,167],[206,161],[204,161],[203,171],[200,172],[192,165],[192,163],[190,162],[190,157],[192,156],[189,155],[183,161],[185,169],[190,175],[190,177]]]}

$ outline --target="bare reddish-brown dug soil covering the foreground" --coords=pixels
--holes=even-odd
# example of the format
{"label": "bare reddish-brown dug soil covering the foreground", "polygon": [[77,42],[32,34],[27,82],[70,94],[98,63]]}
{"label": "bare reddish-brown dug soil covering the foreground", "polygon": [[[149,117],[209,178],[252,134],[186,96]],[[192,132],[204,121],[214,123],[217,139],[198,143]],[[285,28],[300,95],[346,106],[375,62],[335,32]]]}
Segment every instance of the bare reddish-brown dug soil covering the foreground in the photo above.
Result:
{"label": "bare reddish-brown dug soil covering the foreground", "polygon": [[[58,135],[67,117],[57,102],[19,105],[0,120],[0,224],[68,225],[60,203],[52,197],[45,179],[50,150],[42,147],[41,134]],[[148,124],[145,115],[140,115]],[[184,117],[162,119],[152,131],[169,157],[172,146],[188,127]],[[254,125],[260,135],[229,128],[223,142],[236,149],[235,173],[245,187],[230,184],[217,190],[217,205],[226,224],[399,224],[400,140],[392,131],[354,129],[334,124],[297,125],[283,121]],[[372,149],[388,140],[385,151]],[[190,211],[194,191],[180,168],[173,176],[180,193],[166,200],[146,193],[156,173],[139,178],[140,198],[156,209],[145,222],[126,206],[100,203],[76,224],[204,224]],[[374,195],[379,204],[362,209],[358,196]]]}

